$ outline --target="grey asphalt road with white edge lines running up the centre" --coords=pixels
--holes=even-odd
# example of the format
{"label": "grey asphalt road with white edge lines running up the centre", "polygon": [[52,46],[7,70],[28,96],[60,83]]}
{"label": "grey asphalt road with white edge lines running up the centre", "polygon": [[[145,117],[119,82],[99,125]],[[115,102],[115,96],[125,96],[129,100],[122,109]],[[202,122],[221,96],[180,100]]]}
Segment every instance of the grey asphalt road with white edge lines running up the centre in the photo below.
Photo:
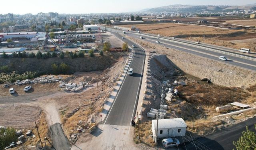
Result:
{"label": "grey asphalt road with white edge lines running up the centre", "polygon": [[[120,34],[112,33],[118,38],[122,38]],[[128,45],[136,45],[130,40],[124,39]],[[134,48],[134,58],[132,59],[130,68],[134,72],[132,76],[128,74],[120,87],[118,95],[116,96],[108,115],[105,118],[105,124],[130,126],[131,120],[135,115],[138,96],[140,93],[140,86],[142,82],[143,68],[145,62],[145,52],[142,48]],[[130,69],[129,68],[129,69]],[[128,69],[128,70],[129,70]]]}

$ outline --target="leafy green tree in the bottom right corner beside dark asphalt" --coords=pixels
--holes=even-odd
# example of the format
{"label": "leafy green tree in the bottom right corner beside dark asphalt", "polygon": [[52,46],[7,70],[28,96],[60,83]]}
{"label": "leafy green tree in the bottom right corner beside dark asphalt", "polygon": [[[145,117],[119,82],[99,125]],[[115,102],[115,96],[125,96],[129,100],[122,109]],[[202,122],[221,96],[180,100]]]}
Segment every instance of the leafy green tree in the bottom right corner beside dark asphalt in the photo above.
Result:
{"label": "leafy green tree in the bottom right corner beside dark asphalt", "polygon": [[[256,124],[254,124],[254,128],[256,129]],[[256,134],[246,126],[246,131],[243,131],[242,136],[233,144],[237,150],[256,150]]]}

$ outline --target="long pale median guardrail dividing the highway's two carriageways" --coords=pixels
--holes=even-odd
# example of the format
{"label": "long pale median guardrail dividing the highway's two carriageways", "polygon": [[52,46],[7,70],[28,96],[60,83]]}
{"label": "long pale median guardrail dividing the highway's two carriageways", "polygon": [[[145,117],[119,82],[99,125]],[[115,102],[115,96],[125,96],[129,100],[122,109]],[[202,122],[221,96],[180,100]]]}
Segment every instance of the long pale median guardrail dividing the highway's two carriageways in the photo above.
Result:
{"label": "long pale median guardrail dividing the highway's two carriageways", "polygon": [[[150,36],[150,35],[147,35],[147,34],[141,34],[141,33],[140,34],[139,33],[134,33],[134,34],[148,36],[148,37],[151,37],[151,38],[156,38],[156,36]],[[220,53],[223,53],[223,54],[238,56],[238,57],[247,58],[247,59],[255,60],[256,61],[256,58],[252,58],[252,57],[249,57],[249,56],[244,56],[244,55],[240,55],[240,54],[234,54],[234,53],[231,53],[231,52],[225,52],[225,51],[222,51],[222,50],[216,50],[216,49],[213,49],[213,48],[207,48],[207,47],[204,47],[204,46],[194,45],[194,44],[190,44],[190,43],[186,43],[186,42],[180,42],[180,41],[172,40],[172,39],[168,39],[168,38],[161,38],[161,37],[159,37],[159,39],[161,39],[161,40],[169,40],[170,42],[174,42],[174,43],[184,44],[184,45],[198,47],[198,48],[203,48],[203,49],[211,50],[211,51],[214,51],[214,52],[220,52]]]}

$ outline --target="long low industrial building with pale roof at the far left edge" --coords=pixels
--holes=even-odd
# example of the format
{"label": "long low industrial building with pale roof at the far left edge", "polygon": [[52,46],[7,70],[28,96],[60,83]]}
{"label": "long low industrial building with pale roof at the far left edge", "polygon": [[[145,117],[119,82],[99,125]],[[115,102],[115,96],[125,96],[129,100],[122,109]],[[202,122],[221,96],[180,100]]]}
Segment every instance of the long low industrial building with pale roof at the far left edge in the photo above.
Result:
{"label": "long low industrial building with pale roof at the far left edge", "polygon": [[0,33],[1,41],[6,41],[7,39],[16,39],[16,40],[29,40],[37,36],[37,32],[10,32],[10,33]]}

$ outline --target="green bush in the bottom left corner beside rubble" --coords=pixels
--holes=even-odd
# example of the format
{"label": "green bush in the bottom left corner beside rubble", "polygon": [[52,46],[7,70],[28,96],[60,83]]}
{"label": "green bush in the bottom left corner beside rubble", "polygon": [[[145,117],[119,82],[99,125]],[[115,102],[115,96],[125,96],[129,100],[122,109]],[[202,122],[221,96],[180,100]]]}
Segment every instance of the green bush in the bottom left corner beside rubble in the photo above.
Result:
{"label": "green bush in the bottom left corner beside rubble", "polygon": [[0,129],[0,150],[4,150],[11,142],[17,142],[16,130],[14,128]]}

